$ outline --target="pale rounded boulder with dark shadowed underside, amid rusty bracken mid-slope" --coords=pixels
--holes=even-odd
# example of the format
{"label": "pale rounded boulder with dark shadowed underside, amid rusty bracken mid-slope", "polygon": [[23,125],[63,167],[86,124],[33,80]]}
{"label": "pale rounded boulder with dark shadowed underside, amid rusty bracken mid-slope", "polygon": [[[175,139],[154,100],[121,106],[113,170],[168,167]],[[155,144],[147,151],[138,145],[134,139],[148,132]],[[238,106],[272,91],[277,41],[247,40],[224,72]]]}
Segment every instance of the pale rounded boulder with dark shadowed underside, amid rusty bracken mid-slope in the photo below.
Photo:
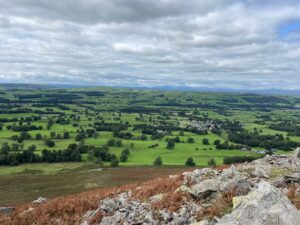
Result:
{"label": "pale rounded boulder with dark shadowed underside, amid rusty bracken mid-slope", "polygon": [[217,179],[204,180],[191,187],[190,194],[197,199],[206,199],[220,191],[221,182]]}

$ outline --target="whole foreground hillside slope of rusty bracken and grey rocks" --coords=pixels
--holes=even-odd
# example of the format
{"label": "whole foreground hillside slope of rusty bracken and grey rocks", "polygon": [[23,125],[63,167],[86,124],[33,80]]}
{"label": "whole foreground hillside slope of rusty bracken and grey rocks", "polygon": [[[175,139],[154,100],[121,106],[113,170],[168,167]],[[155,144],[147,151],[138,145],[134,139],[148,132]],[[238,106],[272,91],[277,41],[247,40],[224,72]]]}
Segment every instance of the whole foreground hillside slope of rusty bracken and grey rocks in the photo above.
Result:
{"label": "whole foreground hillside slope of rusty bracken and grey rocks", "polygon": [[18,205],[0,224],[300,224],[300,149]]}

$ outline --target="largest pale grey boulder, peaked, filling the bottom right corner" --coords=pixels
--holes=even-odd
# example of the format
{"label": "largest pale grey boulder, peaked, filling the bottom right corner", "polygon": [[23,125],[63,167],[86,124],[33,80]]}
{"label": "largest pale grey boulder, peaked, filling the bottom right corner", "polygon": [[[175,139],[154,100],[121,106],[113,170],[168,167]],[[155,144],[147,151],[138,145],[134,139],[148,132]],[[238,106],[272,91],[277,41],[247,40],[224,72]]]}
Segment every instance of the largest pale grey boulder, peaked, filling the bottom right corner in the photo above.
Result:
{"label": "largest pale grey boulder, peaked, filling the bottom right corner", "polygon": [[217,225],[299,225],[300,212],[280,190],[261,181],[248,195],[235,197],[232,213]]}

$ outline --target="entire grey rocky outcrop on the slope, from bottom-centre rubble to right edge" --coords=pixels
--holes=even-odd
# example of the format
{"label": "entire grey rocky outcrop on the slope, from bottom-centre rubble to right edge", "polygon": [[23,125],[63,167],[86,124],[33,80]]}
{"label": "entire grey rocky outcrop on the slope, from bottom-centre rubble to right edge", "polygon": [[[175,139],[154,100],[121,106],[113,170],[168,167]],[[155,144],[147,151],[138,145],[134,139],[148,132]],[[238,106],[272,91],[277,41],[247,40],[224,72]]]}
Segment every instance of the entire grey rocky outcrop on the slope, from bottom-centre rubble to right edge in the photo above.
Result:
{"label": "entire grey rocky outcrop on the slope, from bottom-centre rubble to right edge", "polygon": [[[273,167],[300,169],[300,158],[295,156],[266,156],[248,163],[248,172],[243,167],[231,166],[222,171],[211,168],[197,169],[182,174],[183,180],[174,192],[187,193],[193,200],[184,201],[177,211],[155,209],[153,204],[165,201],[165,193],[155,194],[148,199],[134,199],[131,192],[101,201],[95,212],[104,216],[101,225],[113,224],[201,224],[201,225],[296,225],[300,224],[300,212],[285,196],[290,184],[299,184],[300,173],[277,177],[269,183]],[[169,179],[178,179],[172,176]],[[278,188],[276,188],[276,187]],[[282,189],[282,190],[281,190]],[[138,189],[140,191],[140,189]],[[223,194],[231,193],[233,210],[231,213],[210,220],[197,222],[204,215],[206,207],[220,204]],[[218,208],[218,205],[214,207]],[[86,223],[88,224],[88,223]]]}

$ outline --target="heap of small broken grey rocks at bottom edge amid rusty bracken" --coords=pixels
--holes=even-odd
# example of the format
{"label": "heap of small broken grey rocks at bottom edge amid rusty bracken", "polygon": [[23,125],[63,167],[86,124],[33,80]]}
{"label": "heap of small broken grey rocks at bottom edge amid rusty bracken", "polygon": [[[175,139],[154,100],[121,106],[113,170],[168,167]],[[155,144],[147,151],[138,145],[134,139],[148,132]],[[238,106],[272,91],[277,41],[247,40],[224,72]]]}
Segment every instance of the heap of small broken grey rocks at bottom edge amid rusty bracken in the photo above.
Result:
{"label": "heap of small broken grey rocks at bottom edge amid rusty bracken", "polygon": [[[168,210],[155,211],[149,202],[131,199],[131,193],[122,193],[116,198],[107,198],[101,201],[99,209],[104,213],[100,225],[130,225],[130,224],[190,224],[196,222],[200,206],[187,203],[178,212]],[[94,214],[94,212],[93,212]],[[86,215],[87,216],[87,215]],[[91,220],[90,215],[88,216]],[[84,221],[82,225],[89,224]]]}

